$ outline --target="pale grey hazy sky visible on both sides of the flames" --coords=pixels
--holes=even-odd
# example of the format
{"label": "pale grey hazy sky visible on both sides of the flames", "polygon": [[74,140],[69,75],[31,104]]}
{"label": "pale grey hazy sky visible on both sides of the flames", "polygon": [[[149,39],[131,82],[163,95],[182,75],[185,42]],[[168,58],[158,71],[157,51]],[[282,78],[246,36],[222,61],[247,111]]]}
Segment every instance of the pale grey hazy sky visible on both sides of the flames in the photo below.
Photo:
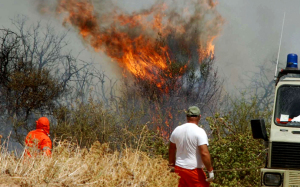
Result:
{"label": "pale grey hazy sky visible on both sides of the flames", "polygon": [[[50,21],[58,31],[64,28],[54,18],[40,15],[33,0],[0,0],[0,26],[12,27],[10,19],[21,14],[30,22]],[[128,11],[147,8],[152,0],[113,0]],[[229,92],[241,87],[240,79],[246,74],[258,71],[257,66],[277,57],[283,14],[286,12],[280,61],[286,61],[288,53],[300,55],[300,1],[299,0],[223,0],[217,9],[225,19],[223,31],[215,40],[216,67],[220,76],[226,79]],[[75,51],[85,49],[76,33],[70,34],[70,41],[76,44]],[[103,55],[86,50],[81,58],[95,58],[106,72],[118,78],[117,65]],[[282,64],[281,66],[285,66]],[[275,67],[274,67],[275,71]]]}

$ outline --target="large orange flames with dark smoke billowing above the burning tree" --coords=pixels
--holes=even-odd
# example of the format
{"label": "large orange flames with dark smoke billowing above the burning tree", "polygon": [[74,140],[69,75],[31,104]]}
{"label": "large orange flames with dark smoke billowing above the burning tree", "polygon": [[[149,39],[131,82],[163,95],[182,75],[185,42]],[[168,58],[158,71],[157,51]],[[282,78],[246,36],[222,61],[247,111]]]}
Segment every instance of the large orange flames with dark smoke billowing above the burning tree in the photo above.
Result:
{"label": "large orange flames with dark smoke billowing above the burning tree", "polygon": [[[115,9],[102,14],[88,0],[58,0],[56,12],[64,16],[64,25],[77,28],[86,42],[96,51],[105,52],[124,71],[168,92],[166,79],[183,75],[193,56],[199,56],[199,63],[214,56],[212,43],[219,34],[218,24],[222,19],[218,15],[212,21],[204,19],[203,12],[216,14],[213,0],[196,0],[195,6],[193,14],[187,14],[186,8],[182,10],[187,14],[185,17],[174,8],[169,10],[165,3],[138,13],[125,14]],[[201,30],[205,27],[209,32],[203,34]],[[181,43],[173,47],[171,38]],[[193,54],[191,46],[198,46],[198,54]],[[174,74],[171,66],[176,63],[179,51],[186,51],[188,59]]]}

